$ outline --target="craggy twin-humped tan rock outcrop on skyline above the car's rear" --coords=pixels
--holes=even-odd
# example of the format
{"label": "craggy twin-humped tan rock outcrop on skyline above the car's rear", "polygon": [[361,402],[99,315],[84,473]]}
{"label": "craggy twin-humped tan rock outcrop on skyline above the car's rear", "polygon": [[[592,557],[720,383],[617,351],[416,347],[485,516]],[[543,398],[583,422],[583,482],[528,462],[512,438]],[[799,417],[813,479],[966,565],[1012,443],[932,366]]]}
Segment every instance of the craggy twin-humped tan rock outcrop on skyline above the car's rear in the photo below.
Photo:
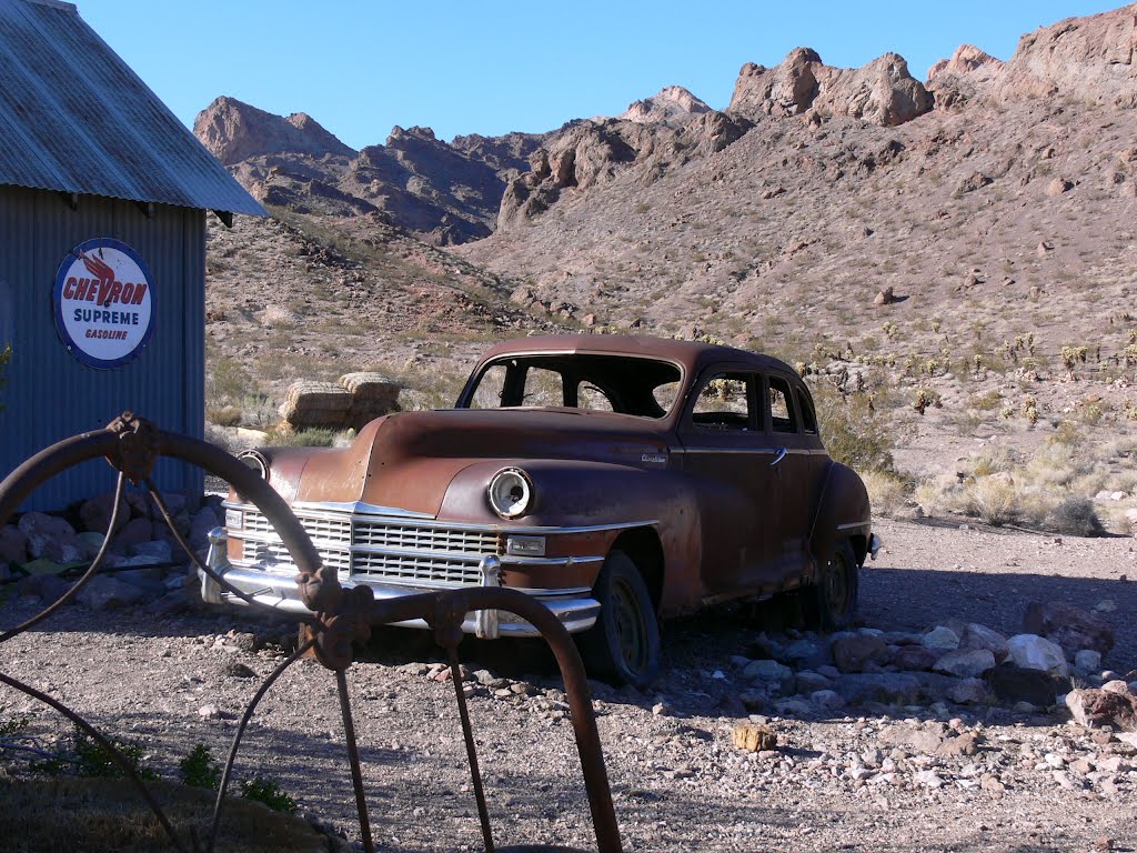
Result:
{"label": "craggy twin-humped tan rock outcrop on skyline above the car's rear", "polygon": [[835,68],[816,51],[796,48],[774,68],[744,65],[729,109],[749,118],[814,110],[887,127],[911,122],[931,107],[931,94],[898,53],[885,53],[861,68]]}

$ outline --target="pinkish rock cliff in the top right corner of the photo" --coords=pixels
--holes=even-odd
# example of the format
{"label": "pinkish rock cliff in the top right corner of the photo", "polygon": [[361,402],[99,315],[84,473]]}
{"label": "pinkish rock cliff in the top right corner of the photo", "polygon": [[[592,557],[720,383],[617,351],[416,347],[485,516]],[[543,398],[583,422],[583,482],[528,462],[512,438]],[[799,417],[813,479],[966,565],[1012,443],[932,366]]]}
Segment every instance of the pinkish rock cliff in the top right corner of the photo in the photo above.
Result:
{"label": "pinkish rock cliff in the top right corner of the photo", "polygon": [[1019,40],[994,98],[1013,102],[1054,97],[1137,107],[1137,3],[1067,18]]}

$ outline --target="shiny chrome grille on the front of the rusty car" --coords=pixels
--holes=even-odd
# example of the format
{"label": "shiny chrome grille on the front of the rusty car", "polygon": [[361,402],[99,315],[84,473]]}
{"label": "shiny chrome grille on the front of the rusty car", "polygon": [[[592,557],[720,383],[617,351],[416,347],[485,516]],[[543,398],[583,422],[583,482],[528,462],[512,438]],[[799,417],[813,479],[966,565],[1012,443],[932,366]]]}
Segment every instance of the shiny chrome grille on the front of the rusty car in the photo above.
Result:
{"label": "shiny chrome grille on the front of the rusty car", "polygon": [[[267,563],[276,571],[294,571],[292,558],[268,520],[258,510],[241,506],[244,562]],[[325,565],[342,577],[409,585],[478,585],[478,564],[487,554],[505,554],[505,536],[492,530],[466,530],[434,522],[360,517],[330,513],[297,513]]]}

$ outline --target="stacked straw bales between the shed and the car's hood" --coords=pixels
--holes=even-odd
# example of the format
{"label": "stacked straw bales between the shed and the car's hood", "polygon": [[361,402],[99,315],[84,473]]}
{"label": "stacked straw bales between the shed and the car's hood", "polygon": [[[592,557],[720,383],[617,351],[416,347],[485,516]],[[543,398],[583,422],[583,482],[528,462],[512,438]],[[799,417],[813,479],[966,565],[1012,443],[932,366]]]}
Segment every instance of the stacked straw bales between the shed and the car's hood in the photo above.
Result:
{"label": "stacked straw bales between the shed and the car's hood", "polygon": [[293,382],[281,406],[292,429],[359,430],[399,411],[399,383],[382,373],[346,373],[337,382]]}

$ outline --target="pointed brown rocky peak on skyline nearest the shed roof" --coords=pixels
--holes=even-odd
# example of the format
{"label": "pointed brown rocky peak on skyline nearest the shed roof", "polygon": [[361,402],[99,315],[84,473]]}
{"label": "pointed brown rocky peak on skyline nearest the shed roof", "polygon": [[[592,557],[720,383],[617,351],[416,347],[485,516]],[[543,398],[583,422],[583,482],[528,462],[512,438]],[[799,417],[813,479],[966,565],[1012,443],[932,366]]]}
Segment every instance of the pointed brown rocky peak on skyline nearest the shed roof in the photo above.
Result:
{"label": "pointed brown rocky peak on skyline nearest the shed roof", "polygon": [[355,157],[356,154],[305,113],[293,113],[285,118],[226,96],[198,114],[193,133],[226,166],[271,154],[309,157]]}

